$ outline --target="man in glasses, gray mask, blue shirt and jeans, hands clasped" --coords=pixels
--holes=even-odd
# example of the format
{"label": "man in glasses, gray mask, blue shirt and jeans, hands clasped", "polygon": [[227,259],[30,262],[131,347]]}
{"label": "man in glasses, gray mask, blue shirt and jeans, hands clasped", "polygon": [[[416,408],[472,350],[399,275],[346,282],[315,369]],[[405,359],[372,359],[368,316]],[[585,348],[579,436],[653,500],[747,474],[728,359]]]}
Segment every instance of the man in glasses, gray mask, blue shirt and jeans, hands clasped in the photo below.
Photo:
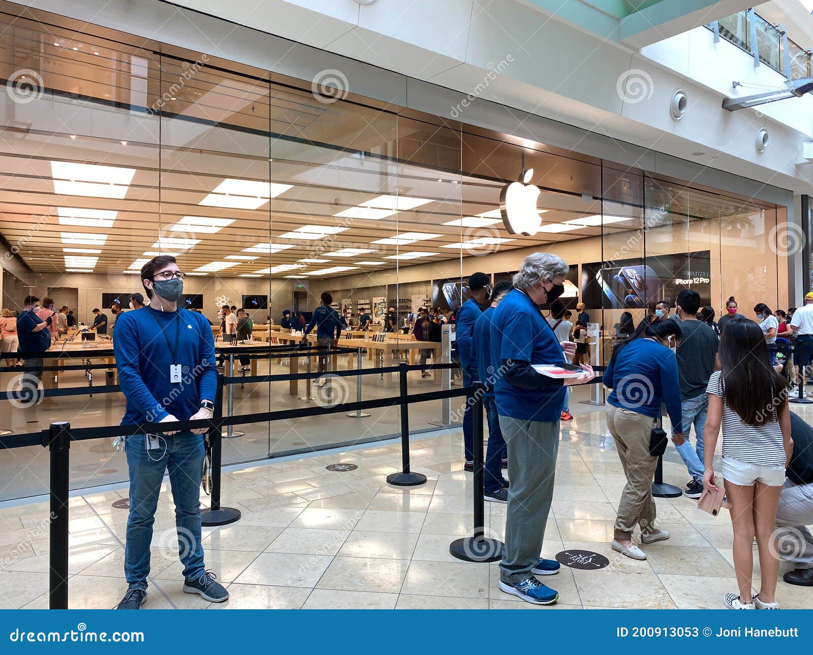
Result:
{"label": "man in glasses, gray mask, blue shirt and jeans, hands clasped", "polygon": [[124,574],[128,590],[118,609],[140,609],[150,575],[150,541],[163,475],[169,471],[186,593],[222,602],[228,592],[206,570],[201,544],[200,485],[203,432],[176,432],[172,423],[211,419],[215,409],[215,341],[197,312],[178,308],[184,277],[175,258],[162,255],[141,268],[149,306],[116,322],[115,365],[127,409],[122,425],[167,423],[159,434],[124,440],[130,476],[130,513]]}

